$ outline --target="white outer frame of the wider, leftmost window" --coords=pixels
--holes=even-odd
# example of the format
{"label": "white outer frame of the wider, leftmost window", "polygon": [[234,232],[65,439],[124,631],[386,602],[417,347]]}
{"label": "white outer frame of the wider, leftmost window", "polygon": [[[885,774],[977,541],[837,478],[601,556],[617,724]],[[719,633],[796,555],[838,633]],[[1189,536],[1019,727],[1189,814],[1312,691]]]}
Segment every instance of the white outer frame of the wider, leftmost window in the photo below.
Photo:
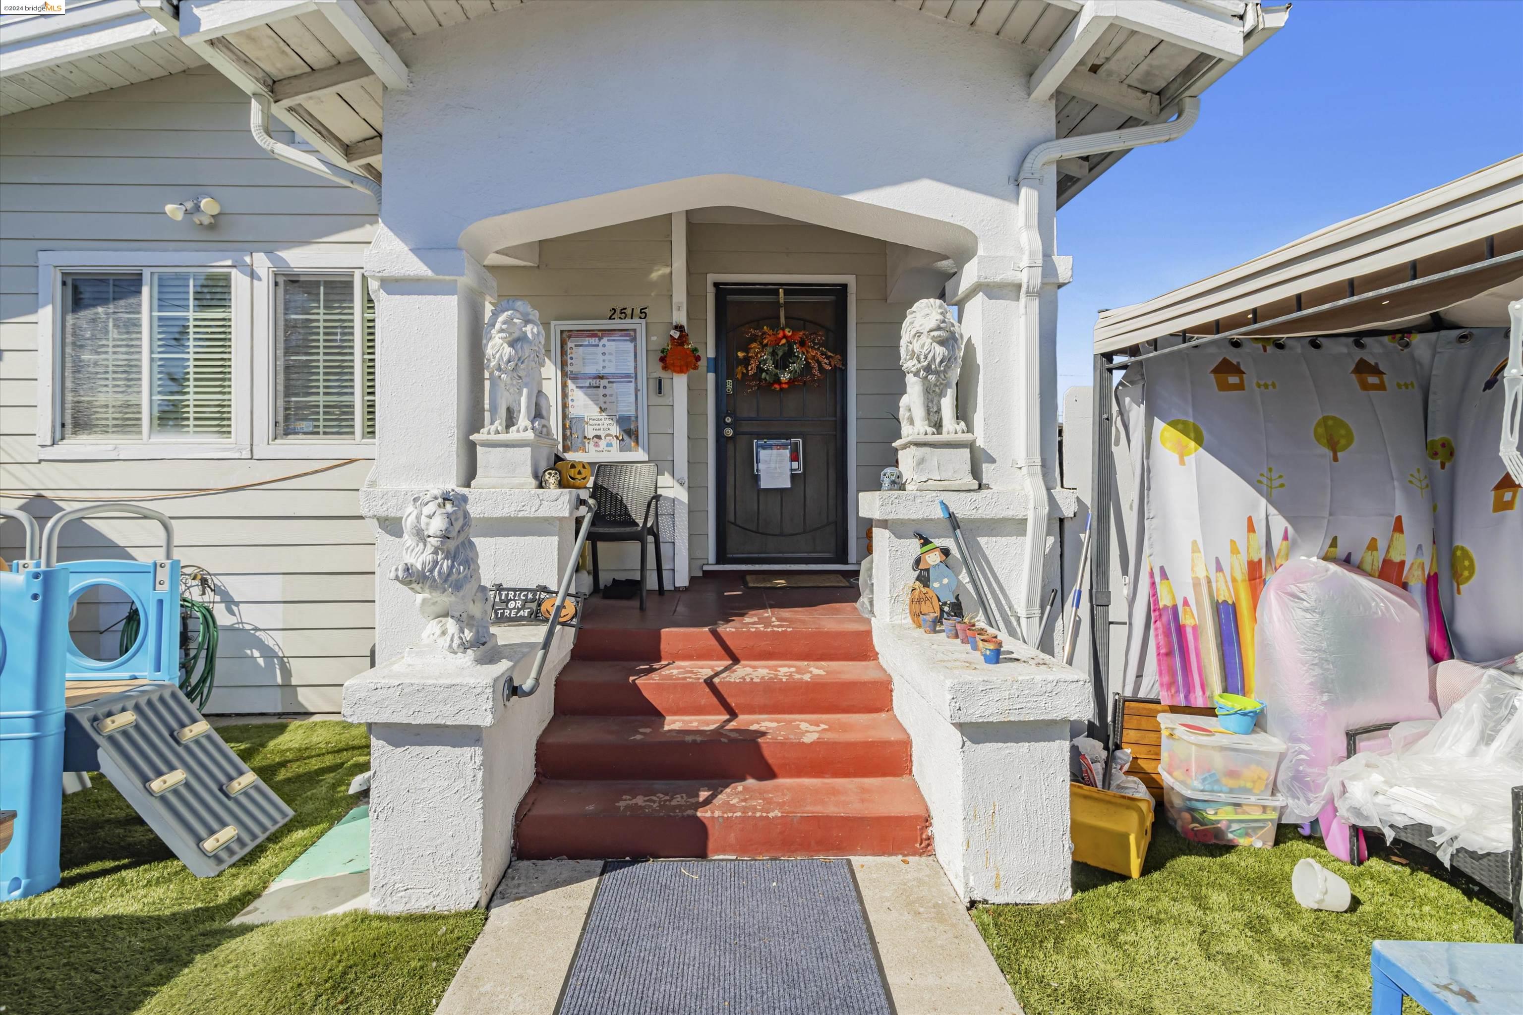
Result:
{"label": "white outer frame of the wider, leftmost window", "polygon": [[[65,274],[230,269],[233,295],[233,405],[228,440],[62,440]],[[37,256],[37,457],[43,461],[248,458],[248,350],[253,271],[235,251],[40,251]],[[151,307],[143,307],[145,318]],[[143,383],[149,382],[148,376]]]}

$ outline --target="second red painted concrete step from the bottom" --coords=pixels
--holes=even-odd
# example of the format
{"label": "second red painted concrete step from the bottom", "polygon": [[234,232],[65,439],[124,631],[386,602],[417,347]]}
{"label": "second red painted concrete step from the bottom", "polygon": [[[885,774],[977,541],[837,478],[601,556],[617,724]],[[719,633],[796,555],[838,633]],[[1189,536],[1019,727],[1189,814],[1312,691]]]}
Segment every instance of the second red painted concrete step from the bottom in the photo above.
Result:
{"label": "second red painted concrete step from the bottom", "polygon": [[547,779],[848,779],[909,775],[909,735],[871,715],[557,715]]}

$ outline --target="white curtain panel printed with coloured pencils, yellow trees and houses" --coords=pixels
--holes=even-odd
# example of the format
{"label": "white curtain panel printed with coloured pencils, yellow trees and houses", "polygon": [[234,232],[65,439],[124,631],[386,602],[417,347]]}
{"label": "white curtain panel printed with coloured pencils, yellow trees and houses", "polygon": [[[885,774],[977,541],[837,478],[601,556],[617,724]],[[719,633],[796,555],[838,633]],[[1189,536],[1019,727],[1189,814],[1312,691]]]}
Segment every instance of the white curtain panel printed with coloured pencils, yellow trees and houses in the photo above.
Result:
{"label": "white curtain panel printed with coloured pencils, yellow trees and houses", "polygon": [[1170,705],[1253,695],[1258,598],[1295,557],[1342,560],[1407,589],[1433,607],[1430,647],[1442,642],[1447,657],[1429,581],[1442,463],[1426,440],[1424,341],[1212,342],[1127,371],[1116,397],[1142,513],[1130,694]]}

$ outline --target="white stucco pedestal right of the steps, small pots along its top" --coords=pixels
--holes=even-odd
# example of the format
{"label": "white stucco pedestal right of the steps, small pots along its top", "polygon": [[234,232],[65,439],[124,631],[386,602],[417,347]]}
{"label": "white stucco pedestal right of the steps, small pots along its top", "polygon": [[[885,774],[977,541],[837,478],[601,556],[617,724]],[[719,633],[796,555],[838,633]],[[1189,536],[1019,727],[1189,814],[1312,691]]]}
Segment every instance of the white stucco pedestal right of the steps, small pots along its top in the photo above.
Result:
{"label": "white stucco pedestal right of the steps, small pots along its top", "polygon": [[931,808],[937,860],[964,902],[1066,899],[1069,721],[1089,679],[1023,645],[982,662],[959,642],[873,621]]}

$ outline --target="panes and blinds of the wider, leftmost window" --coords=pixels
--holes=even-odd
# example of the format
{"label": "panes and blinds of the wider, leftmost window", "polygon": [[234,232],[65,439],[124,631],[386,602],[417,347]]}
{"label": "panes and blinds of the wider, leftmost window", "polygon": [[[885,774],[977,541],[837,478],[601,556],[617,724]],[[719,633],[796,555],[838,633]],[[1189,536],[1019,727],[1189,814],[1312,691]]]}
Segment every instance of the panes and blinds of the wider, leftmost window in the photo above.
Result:
{"label": "panes and blinds of the wider, leftmost window", "polygon": [[228,271],[64,277],[62,440],[231,440]]}

